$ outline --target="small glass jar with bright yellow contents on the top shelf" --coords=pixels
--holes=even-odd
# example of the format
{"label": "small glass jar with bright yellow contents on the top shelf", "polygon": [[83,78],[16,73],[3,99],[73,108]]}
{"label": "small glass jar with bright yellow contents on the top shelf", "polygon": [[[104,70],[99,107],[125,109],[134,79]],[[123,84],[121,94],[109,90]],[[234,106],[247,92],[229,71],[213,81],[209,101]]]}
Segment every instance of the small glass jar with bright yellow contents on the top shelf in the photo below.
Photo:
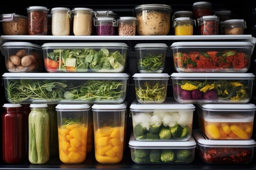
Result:
{"label": "small glass jar with bright yellow contents on the top shelf", "polygon": [[178,17],[174,19],[175,35],[193,35],[194,20],[189,17]]}

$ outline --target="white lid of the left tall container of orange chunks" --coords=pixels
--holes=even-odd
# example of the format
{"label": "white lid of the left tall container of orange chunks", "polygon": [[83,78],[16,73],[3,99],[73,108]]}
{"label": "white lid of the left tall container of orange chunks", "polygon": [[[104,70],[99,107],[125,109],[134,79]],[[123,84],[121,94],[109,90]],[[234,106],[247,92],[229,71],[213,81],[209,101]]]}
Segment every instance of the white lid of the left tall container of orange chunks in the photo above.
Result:
{"label": "white lid of the left tall container of orange chunks", "polygon": [[56,111],[86,111],[90,109],[90,104],[58,104],[56,106]]}

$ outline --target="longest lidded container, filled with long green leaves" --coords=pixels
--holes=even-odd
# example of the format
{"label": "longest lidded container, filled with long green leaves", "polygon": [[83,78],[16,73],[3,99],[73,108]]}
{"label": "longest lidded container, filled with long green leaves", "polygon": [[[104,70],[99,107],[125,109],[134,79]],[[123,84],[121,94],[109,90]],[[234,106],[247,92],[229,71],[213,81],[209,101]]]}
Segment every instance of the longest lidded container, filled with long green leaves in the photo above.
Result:
{"label": "longest lidded container, filled with long green leaves", "polygon": [[12,103],[121,103],[125,73],[4,73],[6,98]]}

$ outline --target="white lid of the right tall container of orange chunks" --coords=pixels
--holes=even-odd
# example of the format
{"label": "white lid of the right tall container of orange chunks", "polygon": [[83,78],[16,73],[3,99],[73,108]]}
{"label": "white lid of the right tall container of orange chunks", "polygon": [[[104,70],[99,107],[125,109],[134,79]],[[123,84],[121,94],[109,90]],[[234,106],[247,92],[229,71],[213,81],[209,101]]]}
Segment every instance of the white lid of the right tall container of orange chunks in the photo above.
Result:
{"label": "white lid of the right tall container of orange chunks", "polygon": [[93,104],[92,111],[124,111],[127,108],[128,102],[121,104]]}

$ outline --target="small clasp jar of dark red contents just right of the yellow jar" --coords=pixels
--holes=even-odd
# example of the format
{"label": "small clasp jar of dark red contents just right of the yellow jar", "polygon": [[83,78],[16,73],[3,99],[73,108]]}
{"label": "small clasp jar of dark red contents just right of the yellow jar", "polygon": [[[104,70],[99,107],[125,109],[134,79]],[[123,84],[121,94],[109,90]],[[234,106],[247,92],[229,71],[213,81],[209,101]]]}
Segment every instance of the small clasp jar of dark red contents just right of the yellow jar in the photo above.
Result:
{"label": "small clasp jar of dark red contents just right of the yellow jar", "polygon": [[197,19],[198,26],[201,27],[201,35],[218,35],[219,34],[219,17],[203,16]]}

